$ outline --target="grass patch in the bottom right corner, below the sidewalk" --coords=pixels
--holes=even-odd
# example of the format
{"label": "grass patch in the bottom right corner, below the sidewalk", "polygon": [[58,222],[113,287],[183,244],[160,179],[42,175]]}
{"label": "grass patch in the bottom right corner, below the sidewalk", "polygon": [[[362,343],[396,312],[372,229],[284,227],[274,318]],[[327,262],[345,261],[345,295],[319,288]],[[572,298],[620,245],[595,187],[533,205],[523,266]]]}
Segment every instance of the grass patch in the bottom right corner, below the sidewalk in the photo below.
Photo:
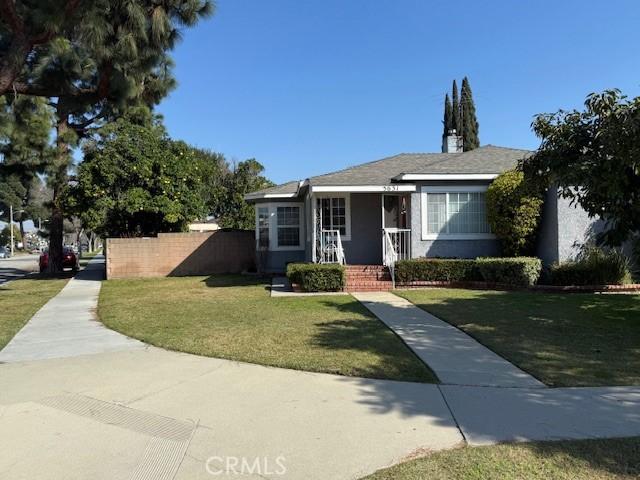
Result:
{"label": "grass patch in the bottom right corner, below the sidewalk", "polygon": [[640,438],[464,447],[380,470],[367,480],[631,480]]}

